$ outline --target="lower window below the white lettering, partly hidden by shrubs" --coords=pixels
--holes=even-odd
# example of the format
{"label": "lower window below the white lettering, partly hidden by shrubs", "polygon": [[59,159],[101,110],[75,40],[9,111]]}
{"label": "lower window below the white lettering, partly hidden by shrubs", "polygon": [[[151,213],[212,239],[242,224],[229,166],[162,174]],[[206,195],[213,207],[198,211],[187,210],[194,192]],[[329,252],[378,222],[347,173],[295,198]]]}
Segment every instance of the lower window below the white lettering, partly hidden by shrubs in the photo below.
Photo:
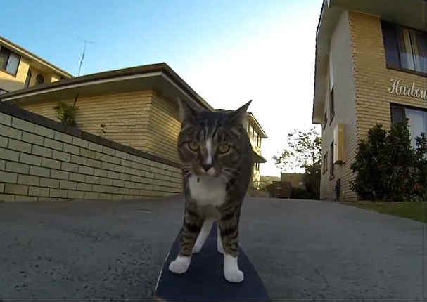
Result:
{"label": "lower window below the white lettering, partly hidden by shrubs", "polygon": [[427,133],[427,110],[402,105],[391,106],[391,122],[393,124],[404,122],[408,119],[411,145],[416,146],[416,137],[421,133]]}

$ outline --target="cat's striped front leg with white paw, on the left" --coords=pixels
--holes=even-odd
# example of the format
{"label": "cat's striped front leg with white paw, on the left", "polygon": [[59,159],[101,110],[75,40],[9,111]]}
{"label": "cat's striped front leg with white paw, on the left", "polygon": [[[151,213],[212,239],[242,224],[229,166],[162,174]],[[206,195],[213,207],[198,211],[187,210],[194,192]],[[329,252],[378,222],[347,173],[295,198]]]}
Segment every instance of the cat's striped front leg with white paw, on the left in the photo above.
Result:
{"label": "cat's striped front leg with white paw, on the left", "polygon": [[169,270],[172,273],[182,274],[189,269],[194,243],[200,233],[202,224],[203,218],[199,216],[197,211],[186,209],[181,235],[181,251],[169,265]]}

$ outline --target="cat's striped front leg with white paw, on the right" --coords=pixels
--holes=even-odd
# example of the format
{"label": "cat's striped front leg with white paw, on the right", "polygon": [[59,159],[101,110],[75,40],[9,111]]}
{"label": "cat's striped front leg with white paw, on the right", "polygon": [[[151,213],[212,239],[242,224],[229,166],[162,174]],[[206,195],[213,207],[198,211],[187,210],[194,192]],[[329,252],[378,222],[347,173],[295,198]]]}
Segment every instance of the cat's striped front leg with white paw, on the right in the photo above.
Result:
{"label": "cat's striped front leg with white paw, on the right", "polygon": [[236,219],[236,215],[224,216],[219,221],[219,230],[224,247],[225,280],[242,282],[244,279],[243,272],[238,268],[238,219]]}

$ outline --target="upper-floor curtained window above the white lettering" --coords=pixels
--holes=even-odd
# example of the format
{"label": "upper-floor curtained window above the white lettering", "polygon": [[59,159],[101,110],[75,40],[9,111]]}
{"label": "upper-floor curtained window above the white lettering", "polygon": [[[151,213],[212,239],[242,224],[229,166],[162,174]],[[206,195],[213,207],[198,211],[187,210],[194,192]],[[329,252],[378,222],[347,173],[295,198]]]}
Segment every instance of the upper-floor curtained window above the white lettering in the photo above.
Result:
{"label": "upper-floor curtained window above the white lettering", "polygon": [[427,33],[381,22],[387,67],[427,74]]}

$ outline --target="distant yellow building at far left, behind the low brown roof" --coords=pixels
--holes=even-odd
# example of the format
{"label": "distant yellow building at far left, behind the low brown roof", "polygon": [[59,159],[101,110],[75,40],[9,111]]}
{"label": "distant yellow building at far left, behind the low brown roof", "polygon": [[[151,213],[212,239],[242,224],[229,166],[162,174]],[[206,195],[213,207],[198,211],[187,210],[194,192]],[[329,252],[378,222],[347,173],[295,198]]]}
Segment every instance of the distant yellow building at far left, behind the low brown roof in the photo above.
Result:
{"label": "distant yellow building at far left, behind the low brown roof", "polygon": [[72,74],[0,37],[0,94],[70,78]]}

